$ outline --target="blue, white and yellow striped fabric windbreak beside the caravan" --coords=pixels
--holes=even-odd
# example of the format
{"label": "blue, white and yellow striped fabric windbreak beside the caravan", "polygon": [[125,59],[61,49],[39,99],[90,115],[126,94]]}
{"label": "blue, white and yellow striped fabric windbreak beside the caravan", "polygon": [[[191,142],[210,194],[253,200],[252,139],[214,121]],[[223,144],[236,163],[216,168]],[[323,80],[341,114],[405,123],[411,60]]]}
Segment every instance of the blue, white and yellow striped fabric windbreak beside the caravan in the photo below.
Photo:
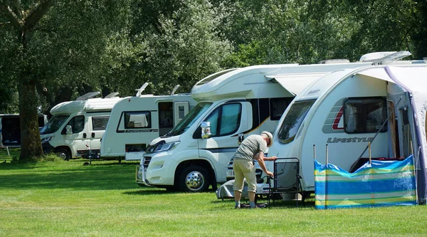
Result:
{"label": "blue, white and yellow striped fabric windbreak beside the caravan", "polygon": [[349,173],[315,160],[316,209],[416,205],[412,155],[403,161],[373,160]]}

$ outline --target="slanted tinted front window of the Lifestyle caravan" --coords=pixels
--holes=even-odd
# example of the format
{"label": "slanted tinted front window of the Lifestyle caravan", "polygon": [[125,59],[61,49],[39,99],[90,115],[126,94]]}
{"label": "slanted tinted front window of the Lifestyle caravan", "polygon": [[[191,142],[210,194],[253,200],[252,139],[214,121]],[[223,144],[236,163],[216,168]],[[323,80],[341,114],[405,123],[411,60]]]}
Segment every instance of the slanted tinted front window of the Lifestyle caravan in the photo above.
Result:
{"label": "slanted tinted front window of the Lifestyle caravan", "polygon": [[315,101],[316,100],[298,101],[290,107],[278,132],[280,142],[287,144],[295,139],[295,135],[297,135],[305,115],[307,115],[308,110],[310,110]]}

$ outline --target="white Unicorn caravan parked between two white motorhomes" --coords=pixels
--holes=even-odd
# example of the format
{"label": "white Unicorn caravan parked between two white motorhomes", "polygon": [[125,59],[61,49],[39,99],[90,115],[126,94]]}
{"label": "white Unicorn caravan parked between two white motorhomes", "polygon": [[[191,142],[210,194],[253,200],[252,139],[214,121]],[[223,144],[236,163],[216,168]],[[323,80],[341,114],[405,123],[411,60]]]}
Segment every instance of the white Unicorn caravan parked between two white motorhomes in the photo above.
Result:
{"label": "white Unicorn caravan parked between two white motorhomes", "polygon": [[196,105],[190,94],[123,98],[112,108],[101,141],[102,159],[141,160],[147,144],[166,135]]}

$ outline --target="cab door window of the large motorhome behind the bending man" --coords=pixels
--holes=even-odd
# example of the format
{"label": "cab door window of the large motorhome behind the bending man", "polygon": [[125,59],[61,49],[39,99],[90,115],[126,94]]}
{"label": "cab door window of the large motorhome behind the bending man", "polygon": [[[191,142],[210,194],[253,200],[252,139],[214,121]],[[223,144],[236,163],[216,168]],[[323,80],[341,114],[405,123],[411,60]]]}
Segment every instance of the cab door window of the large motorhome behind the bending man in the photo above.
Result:
{"label": "cab door window of the large motorhome behind the bending man", "polygon": [[231,135],[238,130],[241,121],[242,105],[226,104],[217,107],[205,120],[211,123],[212,137]]}

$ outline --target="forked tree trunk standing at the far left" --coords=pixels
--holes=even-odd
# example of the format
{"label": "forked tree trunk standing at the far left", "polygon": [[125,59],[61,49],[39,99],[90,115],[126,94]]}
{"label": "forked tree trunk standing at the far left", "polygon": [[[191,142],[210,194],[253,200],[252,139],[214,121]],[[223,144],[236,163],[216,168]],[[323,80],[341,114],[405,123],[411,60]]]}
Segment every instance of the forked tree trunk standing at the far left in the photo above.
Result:
{"label": "forked tree trunk standing at the far left", "polygon": [[36,62],[28,53],[28,42],[31,41],[33,29],[51,8],[51,4],[52,0],[42,0],[33,6],[23,5],[20,1],[1,5],[1,10],[4,11],[9,23],[14,28],[16,41],[19,42],[16,67],[19,73],[19,114],[21,115],[21,156],[19,159],[22,162],[43,153],[38,132],[38,95],[36,92],[38,80],[31,70]]}

